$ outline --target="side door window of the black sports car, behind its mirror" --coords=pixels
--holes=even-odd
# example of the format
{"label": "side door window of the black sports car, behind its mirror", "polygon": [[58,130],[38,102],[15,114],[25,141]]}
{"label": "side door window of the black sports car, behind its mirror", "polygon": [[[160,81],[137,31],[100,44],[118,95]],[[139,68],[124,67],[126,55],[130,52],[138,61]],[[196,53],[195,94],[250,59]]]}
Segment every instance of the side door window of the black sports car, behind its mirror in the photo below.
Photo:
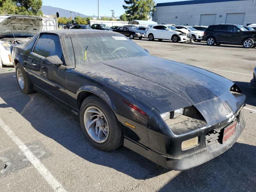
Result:
{"label": "side door window of the black sports car, behind its mirror", "polygon": [[62,49],[60,46],[59,36],[42,34],[38,38],[33,52],[43,57],[57,55],[59,58],[62,58]]}

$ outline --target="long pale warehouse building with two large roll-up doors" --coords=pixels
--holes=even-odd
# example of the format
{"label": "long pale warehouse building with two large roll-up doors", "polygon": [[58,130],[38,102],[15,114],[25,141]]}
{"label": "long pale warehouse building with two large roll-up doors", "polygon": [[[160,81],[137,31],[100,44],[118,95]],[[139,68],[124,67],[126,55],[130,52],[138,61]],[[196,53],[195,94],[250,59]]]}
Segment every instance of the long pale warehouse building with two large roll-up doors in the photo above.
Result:
{"label": "long pale warehouse building with two large roll-up doors", "polygon": [[256,23],[256,0],[190,0],[158,3],[155,8],[152,20],[158,24]]}

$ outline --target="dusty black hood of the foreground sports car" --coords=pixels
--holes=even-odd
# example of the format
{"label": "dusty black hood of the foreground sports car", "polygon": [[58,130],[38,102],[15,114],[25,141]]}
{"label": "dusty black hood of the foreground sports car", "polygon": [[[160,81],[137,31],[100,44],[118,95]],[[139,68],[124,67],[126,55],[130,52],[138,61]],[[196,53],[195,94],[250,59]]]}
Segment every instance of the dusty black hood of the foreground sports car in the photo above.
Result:
{"label": "dusty black hood of the foreground sports car", "polygon": [[97,68],[100,71],[84,65],[114,90],[138,96],[161,113],[217,98],[234,84],[201,68],[154,56],[105,61]]}

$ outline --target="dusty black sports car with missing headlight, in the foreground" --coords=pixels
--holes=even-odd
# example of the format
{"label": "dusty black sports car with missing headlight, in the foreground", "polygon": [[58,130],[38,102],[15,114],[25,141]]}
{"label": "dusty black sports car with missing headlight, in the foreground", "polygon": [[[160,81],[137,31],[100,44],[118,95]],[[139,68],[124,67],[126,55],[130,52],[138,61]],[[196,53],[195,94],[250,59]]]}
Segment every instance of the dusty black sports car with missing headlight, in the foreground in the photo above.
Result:
{"label": "dusty black sports car with missing headlight, in the foreground", "polygon": [[11,52],[20,90],[44,92],[80,116],[101,150],[124,145],[185,170],[231,148],[245,126],[234,82],[151,56],[116,32],[41,32]]}

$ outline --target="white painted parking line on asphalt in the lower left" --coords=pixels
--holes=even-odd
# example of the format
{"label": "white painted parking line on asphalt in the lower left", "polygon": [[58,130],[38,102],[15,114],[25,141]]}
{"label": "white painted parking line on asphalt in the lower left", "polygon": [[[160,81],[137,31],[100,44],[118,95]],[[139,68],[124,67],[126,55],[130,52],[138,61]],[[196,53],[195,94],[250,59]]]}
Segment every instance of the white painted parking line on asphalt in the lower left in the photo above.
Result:
{"label": "white painted parking line on asphalt in the lower left", "polygon": [[54,178],[48,169],[40,162],[38,158],[28,149],[28,147],[12,132],[12,130],[0,118],[0,127],[12,139],[12,141],[20,148],[26,158],[44,177],[48,184],[54,189],[55,192],[66,192],[63,186]]}

